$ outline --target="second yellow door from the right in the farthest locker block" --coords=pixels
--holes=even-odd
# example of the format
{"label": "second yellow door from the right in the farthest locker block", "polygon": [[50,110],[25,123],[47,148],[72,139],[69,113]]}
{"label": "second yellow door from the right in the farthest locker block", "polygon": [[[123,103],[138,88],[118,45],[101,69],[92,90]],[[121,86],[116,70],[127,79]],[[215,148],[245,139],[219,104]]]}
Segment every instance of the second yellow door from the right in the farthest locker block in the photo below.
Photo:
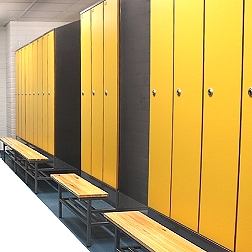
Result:
{"label": "second yellow door from the right in the farthest locker block", "polygon": [[48,92],[48,88],[47,88],[47,75],[48,75],[48,64],[47,64],[47,38],[48,35],[44,35],[42,38],[42,43],[43,43],[43,74],[42,74],[42,106],[43,106],[43,118],[42,118],[42,122],[43,122],[43,126],[42,126],[42,149],[47,151],[47,142],[48,142],[48,101],[47,101],[47,92]]}

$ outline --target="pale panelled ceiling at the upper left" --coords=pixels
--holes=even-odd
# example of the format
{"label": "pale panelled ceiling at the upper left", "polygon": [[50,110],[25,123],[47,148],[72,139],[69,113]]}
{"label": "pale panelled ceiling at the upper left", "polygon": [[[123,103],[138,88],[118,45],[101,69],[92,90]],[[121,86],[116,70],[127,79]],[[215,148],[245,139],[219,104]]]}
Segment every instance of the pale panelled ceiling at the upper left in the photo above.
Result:
{"label": "pale panelled ceiling at the upper left", "polygon": [[0,27],[9,21],[72,22],[98,0],[0,0]]}

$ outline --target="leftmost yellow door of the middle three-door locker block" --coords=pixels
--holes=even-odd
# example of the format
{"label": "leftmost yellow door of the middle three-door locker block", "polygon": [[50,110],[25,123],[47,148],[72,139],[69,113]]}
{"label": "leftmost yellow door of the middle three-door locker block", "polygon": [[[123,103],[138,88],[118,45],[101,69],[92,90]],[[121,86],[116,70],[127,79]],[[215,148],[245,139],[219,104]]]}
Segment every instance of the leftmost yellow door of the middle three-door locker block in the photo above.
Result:
{"label": "leftmost yellow door of the middle three-door locker block", "polygon": [[81,170],[91,170],[91,15],[81,14]]}

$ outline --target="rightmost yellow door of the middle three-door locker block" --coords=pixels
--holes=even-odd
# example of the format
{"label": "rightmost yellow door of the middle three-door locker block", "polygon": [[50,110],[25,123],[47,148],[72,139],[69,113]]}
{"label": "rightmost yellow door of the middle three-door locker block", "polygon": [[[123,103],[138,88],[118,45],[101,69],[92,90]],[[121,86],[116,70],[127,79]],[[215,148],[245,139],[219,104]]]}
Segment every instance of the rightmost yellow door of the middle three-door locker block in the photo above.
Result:
{"label": "rightmost yellow door of the middle three-door locker block", "polygon": [[103,181],[118,187],[119,1],[104,2]]}

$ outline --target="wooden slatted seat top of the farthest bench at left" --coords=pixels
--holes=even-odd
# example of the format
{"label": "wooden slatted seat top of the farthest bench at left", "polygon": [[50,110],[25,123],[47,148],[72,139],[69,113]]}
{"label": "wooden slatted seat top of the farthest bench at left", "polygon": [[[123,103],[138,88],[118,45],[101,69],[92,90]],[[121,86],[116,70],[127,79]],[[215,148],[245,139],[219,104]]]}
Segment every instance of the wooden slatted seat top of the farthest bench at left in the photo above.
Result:
{"label": "wooden slatted seat top of the farthest bench at left", "polygon": [[5,145],[17,151],[20,155],[26,158],[28,161],[47,161],[48,158],[36,150],[30,148],[29,146],[21,143],[15,138],[12,137],[1,137],[0,141],[2,141]]}

